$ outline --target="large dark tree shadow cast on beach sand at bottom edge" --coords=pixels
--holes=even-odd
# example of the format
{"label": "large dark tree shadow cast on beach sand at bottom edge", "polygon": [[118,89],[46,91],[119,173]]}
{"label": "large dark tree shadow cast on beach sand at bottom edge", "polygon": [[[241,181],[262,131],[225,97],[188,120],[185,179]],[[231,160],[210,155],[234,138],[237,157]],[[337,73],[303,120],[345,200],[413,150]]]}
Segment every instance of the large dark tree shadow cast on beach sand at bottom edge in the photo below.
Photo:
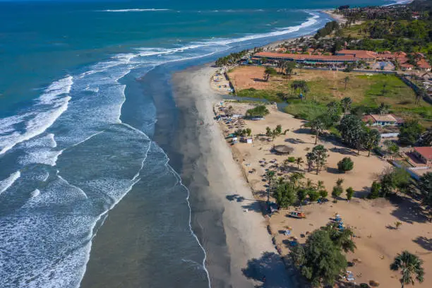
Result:
{"label": "large dark tree shadow cast on beach sand at bottom edge", "polygon": [[241,271],[248,279],[261,282],[255,287],[290,287],[284,263],[280,256],[274,252],[264,252],[260,258],[248,260],[246,268]]}

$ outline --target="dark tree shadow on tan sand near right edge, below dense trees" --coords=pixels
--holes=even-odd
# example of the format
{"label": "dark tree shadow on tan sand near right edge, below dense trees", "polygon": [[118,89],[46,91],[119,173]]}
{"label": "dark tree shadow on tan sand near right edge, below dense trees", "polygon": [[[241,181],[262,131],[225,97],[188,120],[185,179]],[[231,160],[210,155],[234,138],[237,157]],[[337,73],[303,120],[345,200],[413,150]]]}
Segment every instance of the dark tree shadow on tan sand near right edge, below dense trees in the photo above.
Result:
{"label": "dark tree shadow on tan sand near right edge, below dense trees", "polygon": [[388,198],[392,205],[397,209],[392,211],[392,215],[397,219],[407,223],[425,223],[428,221],[428,213],[419,202],[408,196],[393,194]]}

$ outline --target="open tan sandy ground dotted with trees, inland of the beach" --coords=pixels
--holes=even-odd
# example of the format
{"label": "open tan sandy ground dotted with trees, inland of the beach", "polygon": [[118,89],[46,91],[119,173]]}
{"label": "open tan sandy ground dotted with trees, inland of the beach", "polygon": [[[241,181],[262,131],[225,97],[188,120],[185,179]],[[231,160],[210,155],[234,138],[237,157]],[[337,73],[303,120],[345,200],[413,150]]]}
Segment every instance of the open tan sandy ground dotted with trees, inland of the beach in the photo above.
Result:
{"label": "open tan sandy ground dotted with trees, inland of the beach", "polygon": [[[225,103],[224,106],[232,106],[234,114],[242,113],[246,109],[253,107],[253,104]],[[218,109],[219,107],[215,107]],[[270,152],[273,145],[290,145],[294,148],[293,157],[303,157],[306,162],[306,150],[312,149],[315,138],[309,133],[308,128],[304,128],[304,121],[294,119],[289,114],[278,112],[275,107],[268,106],[270,114],[261,121],[242,120],[243,128],[251,128],[253,144],[236,143],[232,146],[234,159],[242,167],[248,184],[251,185],[253,196],[257,201],[265,200],[265,184],[263,174],[268,169],[270,160],[277,160],[277,164],[282,166],[288,156],[275,155]],[[232,124],[232,128],[220,121],[220,126],[225,135],[232,133],[236,128],[241,127]],[[240,122],[241,123],[241,122]],[[263,136],[256,136],[265,133],[265,128],[275,128],[277,124],[282,125],[282,131],[289,129],[286,135],[279,136],[274,142]],[[261,140],[260,140],[261,139]],[[305,220],[296,220],[287,217],[287,210],[281,210],[270,217],[270,226],[277,245],[282,248],[282,254],[289,253],[289,236],[284,236],[281,230],[292,227],[292,235],[299,238],[299,242],[305,241],[304,234],[324,226],[334,217],[336,213],[342,216],[344,224],[353,227],[356,237],[357,249],[355,253],[347,255],[348,260],[357,259],[354,267],[349,268],[354,272],[357,284],[370,280],[380,283],[380,287],[400,287],[397,272],[390,271],[389,265],[397,253],[408,250],[415,253],[424,260],[426,271],[425,281],[416,284],[416,287],[432,287],[432,224],[424,217],[419,203],[404,196],[398,196],[391,201],[385,199],[364,200],[362,196],[368,193],[371,183],[376,179],[377,174],[382,172],[385,167],[390,167],[388,162],[380,160],[371,155],[367,157],[367,152],[360,152],[344,147],[340,143],[327,142],[320,138],[318,144],[323,144],[329,151],[328,163],[320,174],[307,172],[306,163],[304,167],[297,169],[296,164],[288,164],[287,173],[281,172],[279,176],[289,174],[289,172],[304,172],[306,178],[316,183],[318,180],[324,181],[325,188],[329,191],[329,198],[332,187],[338,178],[344,179],[344,189],[352,186],[356,195],[352,201],[340,199],[337,203],[329,201],[324,204],[304,205],[303,210],[307,215]],[[337,162],[343,157],[351,157],[354,161],[354,169],[346,174],[337,171]],[[265,159],[268,164],[261,166],[259,162]],[[344,198],[344,193],[342,198]],[[232,197],[235,199],[235,195]],[[252,210],[251,205],[245,205],[241,198],[237,198],[239,209],[244,209],[245,213],[260,212]],[[247,209],[247,210],[246,210]],[[394,229],[396,221],[402,222],[400,229]],[[342,286],[341,286],[342,287]],[[344,286],[347,287],[347,286]],[[349,286],[350,287],[350,286]]]}

